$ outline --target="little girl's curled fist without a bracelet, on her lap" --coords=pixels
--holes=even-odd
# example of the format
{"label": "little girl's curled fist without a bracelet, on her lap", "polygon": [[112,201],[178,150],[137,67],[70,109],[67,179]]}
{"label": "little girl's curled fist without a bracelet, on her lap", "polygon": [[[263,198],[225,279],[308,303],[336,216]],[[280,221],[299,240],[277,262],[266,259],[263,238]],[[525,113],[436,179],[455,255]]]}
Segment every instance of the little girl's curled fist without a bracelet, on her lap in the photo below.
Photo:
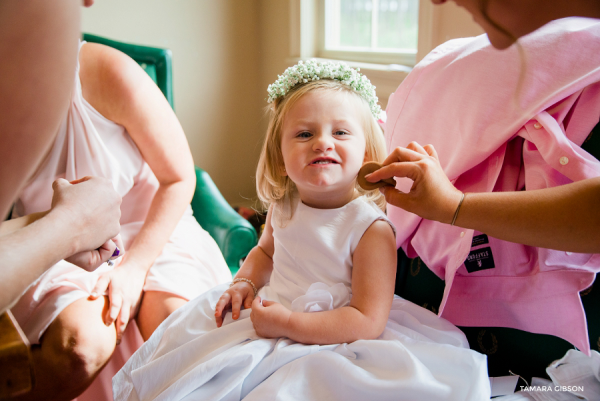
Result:
{"label": "little girl's curled fist without a bracelet, on her lap", "polygon": [[260,297],[252,302],[250,320],[254,324],[256,334],[266,338],[288,337],[290,316],[292,312],[280,303],[264,300]]}

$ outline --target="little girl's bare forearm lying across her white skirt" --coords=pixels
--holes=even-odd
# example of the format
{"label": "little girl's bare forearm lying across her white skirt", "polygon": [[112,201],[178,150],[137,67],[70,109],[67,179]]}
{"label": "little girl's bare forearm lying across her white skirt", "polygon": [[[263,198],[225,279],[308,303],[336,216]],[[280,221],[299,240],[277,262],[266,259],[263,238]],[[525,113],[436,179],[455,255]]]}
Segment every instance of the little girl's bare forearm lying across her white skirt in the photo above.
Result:
{"label": "little girl's bare forearm lying across her white skirt", "polygon": [[375,339],[385,328],[387,316],[369,317],[345,306],[326,312],[292,312],[286,336],[304,344],[339,344]]}

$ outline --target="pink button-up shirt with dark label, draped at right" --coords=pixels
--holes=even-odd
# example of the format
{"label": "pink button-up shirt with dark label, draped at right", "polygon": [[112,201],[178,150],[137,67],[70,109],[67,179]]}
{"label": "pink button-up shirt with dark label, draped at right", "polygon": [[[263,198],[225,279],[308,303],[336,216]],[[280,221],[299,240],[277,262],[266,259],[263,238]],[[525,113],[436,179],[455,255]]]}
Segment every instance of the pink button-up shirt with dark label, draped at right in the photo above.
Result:
{"label": "pink button-up shirt with dark label, draped at right", "polygon": [[[433,144],[463,192],[600,176],[600,162],[580,148],[600,119],[600,22],[555,21],[519,42],[525,58],[515,46],[494,49],[486,36],[432,51],[390,97],[388,150]],[[408,192],[411,184],[397,187]],[[445,279],[441,316],[461,326],[552,334],[589,353],[579,292],[600,270],[600,254],[501,241],[393,206],[388,214],[397,245]]]}

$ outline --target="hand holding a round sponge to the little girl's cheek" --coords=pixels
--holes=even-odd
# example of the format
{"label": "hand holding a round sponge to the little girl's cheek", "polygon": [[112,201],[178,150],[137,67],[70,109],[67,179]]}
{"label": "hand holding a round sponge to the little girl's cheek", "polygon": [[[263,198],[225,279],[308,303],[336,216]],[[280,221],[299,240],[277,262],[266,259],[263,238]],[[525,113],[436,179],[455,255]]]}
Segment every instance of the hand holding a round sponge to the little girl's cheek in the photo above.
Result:
{"label": "hand holding a round sponge to the little girl's cheek", "polygon": [[382,165],[381,169],[365,177],[367,181],[377,182],[391,177],[413,180],[409,193],[391,186],[381,188],[388,203],[425,219],[452,222],[462,193],[444,173],[433,145],[423,147],[411,142],[406,148],[397,147]]}

